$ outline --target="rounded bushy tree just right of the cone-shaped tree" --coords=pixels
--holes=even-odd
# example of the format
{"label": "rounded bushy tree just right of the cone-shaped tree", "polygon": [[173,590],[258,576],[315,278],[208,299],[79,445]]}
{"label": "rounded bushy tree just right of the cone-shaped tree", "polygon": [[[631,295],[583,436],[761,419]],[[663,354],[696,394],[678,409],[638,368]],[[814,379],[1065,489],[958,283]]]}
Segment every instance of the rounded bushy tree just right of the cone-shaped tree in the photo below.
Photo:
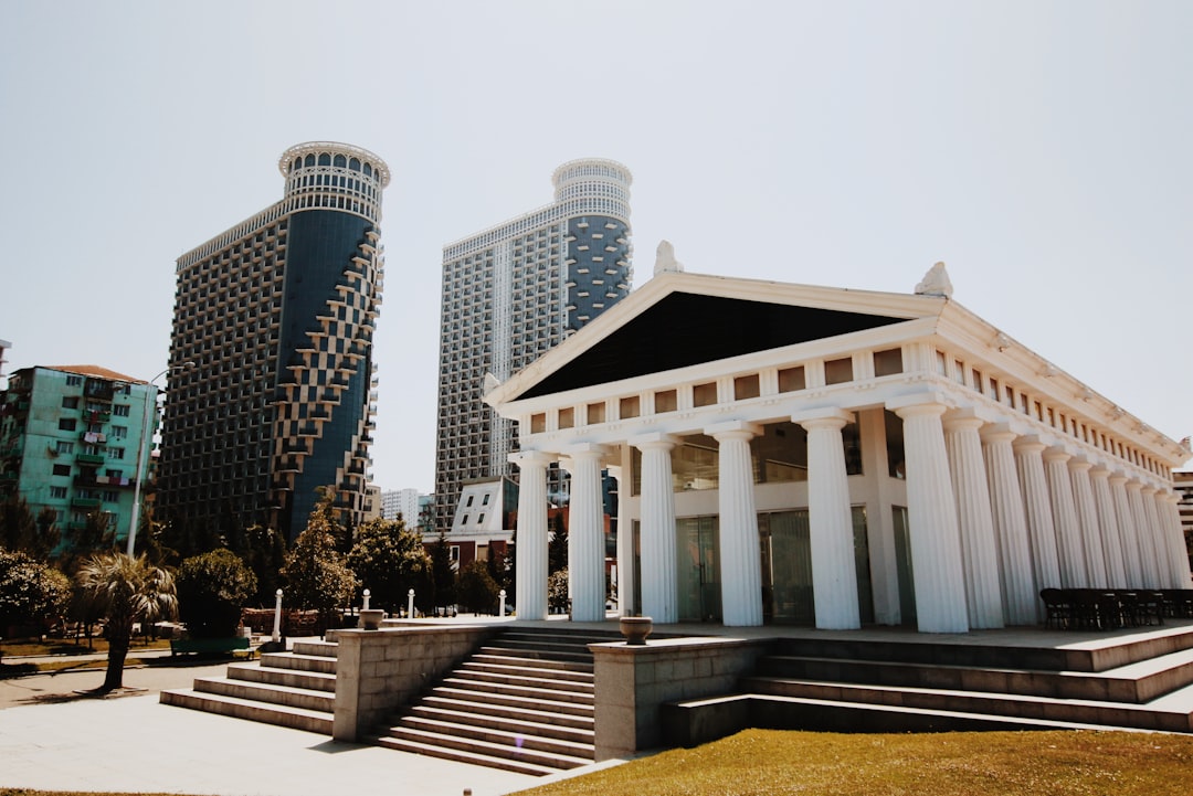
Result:
{"label": "rounded bushy tree just right of the cone-shaped tree", "polygon": [[370,607],[396,611],[407,603],[414,589],[420,605],[431,605],[434,589],[431,556],[422,546],[422,535],[406,527],[402,520],[370,520],[357,529],[356,543],[348,553],[348,566],[369,589]]}

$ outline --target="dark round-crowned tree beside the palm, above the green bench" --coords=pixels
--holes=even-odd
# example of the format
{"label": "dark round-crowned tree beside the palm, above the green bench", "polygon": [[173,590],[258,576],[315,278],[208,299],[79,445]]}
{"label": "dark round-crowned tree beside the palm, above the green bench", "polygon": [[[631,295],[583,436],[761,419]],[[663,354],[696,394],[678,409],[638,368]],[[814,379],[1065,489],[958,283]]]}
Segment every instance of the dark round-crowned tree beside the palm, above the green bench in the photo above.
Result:
{"label": "dark round-crowned tree beside the palm, above the green bench", "polygon": [[241,609],[256,593],[256,576],[229,549],[186,559],[177,580],[179,617],[196,639],[235,635]]}

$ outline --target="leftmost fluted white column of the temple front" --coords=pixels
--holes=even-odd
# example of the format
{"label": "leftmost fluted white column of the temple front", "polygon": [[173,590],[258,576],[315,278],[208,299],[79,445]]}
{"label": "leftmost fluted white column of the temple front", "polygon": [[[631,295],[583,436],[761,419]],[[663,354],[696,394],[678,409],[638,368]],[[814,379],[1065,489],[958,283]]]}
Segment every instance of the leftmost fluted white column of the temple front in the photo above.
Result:
{"label": "leftmost fluted white column of the temple front", "polygon": [[518,562],[519,620],[546,618],[546,467],[554,461],[537,450],[509,454],[518,465],[518,539],[514,560]]}

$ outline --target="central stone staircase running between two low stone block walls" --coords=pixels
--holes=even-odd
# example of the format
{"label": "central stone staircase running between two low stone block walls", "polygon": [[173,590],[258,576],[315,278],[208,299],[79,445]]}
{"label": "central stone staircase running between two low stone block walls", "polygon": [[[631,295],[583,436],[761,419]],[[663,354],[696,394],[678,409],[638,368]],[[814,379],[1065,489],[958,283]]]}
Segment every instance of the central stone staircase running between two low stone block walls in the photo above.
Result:
{"label": "central stone staircase running between two low stone block walls", "polygon": [[593,657],[617,633],[502,632],[409,707],[377,742],[533,776],[589,765]]}

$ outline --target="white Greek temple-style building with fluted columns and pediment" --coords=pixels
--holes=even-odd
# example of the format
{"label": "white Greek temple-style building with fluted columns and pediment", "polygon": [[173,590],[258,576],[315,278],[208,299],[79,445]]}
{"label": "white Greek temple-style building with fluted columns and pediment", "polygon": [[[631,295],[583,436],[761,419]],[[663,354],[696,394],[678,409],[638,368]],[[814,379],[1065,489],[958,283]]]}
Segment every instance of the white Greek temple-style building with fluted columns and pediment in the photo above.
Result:
{"label": "white Greek temple-style building with fluted columns and pediment", "polygon": [[655,276],[486,402],[519,427],[518,615],[546,615],[545,474],[571,475],[573,618],[1034,624],[1044,587],[1189,587],[1187,447],[957,304]]}

